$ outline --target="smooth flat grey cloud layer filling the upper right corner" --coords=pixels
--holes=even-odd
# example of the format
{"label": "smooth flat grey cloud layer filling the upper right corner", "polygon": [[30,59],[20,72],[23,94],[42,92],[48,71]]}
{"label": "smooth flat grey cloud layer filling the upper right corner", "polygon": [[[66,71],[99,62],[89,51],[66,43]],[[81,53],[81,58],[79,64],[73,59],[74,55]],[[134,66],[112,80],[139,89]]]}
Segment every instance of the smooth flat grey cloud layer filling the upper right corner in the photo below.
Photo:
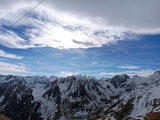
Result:
{"label": "smooth flat grey cloud layer filling the upper right corner", "polygon": [[124,26],[132,32],[160,33],[159,0],[50,0],[50,5],[61,11],[92,17],[94,21],[103,21],[111,26]]}

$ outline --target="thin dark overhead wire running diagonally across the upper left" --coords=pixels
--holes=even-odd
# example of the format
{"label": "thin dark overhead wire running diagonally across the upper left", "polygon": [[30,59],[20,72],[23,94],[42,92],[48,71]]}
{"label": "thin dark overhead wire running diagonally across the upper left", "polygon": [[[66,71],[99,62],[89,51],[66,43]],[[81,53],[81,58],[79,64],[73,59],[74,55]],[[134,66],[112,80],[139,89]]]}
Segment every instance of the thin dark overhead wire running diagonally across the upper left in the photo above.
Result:
{"label": "thin dark overhead wire running diagonally across the upper left", "polygon": [[[44,2],[45,0],[41,0],[36,6],[34,6],[31,10],[29,10],[26,14],[24,14],[21,18],[19,18],[17,21],[15,21],[12,25],[10,25],[8,27],[8,29],[12,28],[14,25],[16,25],[19,21],[21,21],[25,16],[27,16],[29,13],[31,13],[36,7],[38,7],[42,2]],[[2,30],[2,32],[0,33],[0,35],[2,35],[3,33],[7,32],[8,30]]]}

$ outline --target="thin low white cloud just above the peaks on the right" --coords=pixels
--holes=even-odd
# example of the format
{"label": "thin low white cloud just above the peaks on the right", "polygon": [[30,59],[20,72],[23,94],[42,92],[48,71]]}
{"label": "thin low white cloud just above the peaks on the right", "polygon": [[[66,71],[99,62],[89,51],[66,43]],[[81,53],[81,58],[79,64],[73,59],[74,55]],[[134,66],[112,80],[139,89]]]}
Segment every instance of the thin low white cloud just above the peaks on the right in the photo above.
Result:
{"label": "thin low white cloud just above the peaks on the right", "polygon": [[127,74],[129,76],[141,76],[141,77],[148,77],[152,75],[155,72],[155,70],[152,69],[144,69],[144,70],[138,70],[138,71],[124,71],[124,72],[101,72],[100,75],[107,75],[107,76],[115,76],[119,74]]}

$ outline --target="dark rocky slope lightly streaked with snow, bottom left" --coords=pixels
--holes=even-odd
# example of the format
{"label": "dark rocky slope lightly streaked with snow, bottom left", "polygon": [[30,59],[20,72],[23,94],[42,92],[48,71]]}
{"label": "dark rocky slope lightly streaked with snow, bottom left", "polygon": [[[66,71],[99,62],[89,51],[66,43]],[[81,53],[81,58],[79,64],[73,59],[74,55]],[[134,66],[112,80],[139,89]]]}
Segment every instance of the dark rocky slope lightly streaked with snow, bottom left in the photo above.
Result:
{"label": "dark rocky slope lightly streaked with snow, bottom left", "polygon": [[1,114],[5,114],[12,120],[41,120],[41,113],[38,111],[40,103],[32,102],[34,100],[32,89],[23,81],[15,80],[0,84],[0,92],[0,97],[5,96],[0,103],[3,108]]}

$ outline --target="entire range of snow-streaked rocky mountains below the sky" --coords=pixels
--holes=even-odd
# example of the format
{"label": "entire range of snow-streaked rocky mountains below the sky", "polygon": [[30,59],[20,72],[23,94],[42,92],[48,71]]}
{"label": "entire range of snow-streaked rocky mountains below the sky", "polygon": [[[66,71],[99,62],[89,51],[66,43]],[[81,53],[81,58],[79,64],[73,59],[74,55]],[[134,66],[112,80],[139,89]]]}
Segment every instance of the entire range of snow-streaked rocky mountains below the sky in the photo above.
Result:
{"label": "entire range of snow-streaked rocky mountains below the sky", "polygon": [[160,120],[160,71],[148,78],[0,75],[0,114],[11,120]]}

